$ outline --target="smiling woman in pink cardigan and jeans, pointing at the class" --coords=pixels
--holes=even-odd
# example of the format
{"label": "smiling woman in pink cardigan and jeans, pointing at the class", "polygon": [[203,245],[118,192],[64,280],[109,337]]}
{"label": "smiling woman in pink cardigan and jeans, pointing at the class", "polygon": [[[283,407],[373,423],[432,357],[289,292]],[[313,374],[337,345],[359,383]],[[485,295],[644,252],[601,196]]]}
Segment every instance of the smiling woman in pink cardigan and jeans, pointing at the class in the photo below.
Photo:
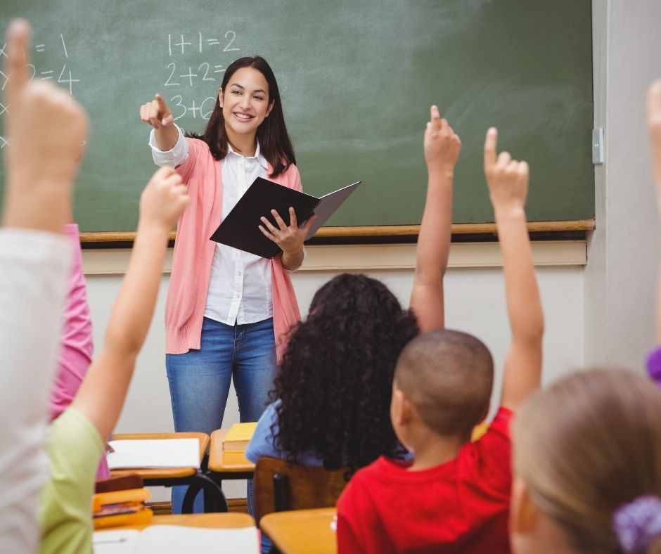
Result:
{"label": "smiling woman in pink cardigan and jeans, pointing at the class", "polygon": [[[154,161],[177,167],[192,197],[177,226],[165,307],[174,428],[211,433],[222,427],[231,380],[240,420],[257,421],[283,335],[300,320],[288,271],[302,263],[312,219],[298,228],[295,218],[287,226],[274,214],[277,226],[260,227],[283,251],[273,259],[209,237],[257,177],[301,190],[276,78],[264,58],[231,63],[201,135],[184,135],[160,94],[141,106],[140,117],[153,127]],[[181,489],[172,492],[175,512]],[[195,511],[201,508],[200,499]]]}

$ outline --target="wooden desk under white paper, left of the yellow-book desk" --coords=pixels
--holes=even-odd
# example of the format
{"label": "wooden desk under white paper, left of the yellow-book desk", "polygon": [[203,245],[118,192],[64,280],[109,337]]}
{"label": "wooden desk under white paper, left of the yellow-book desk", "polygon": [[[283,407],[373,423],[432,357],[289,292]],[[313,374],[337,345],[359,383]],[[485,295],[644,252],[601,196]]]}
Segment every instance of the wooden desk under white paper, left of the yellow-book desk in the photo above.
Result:
{"label": "wooden desk under white paper, left of the yellow-book desk", "polygon": [[198,468],[133,468],[112,470],[110,475],[139,475],[147,487],[173,487],[176,485],[191,485],[188,487],[181,510],[185,514],[193,512],[193,501],[198,491],[205,491],[205,512],[227,512],[227,501],[219,484],[207,476],[205,463],[209,435],[206,433],[122,433],[114,434],[113,440],[145,440],[145,439],[198,439],[200,442],[200,469]]}

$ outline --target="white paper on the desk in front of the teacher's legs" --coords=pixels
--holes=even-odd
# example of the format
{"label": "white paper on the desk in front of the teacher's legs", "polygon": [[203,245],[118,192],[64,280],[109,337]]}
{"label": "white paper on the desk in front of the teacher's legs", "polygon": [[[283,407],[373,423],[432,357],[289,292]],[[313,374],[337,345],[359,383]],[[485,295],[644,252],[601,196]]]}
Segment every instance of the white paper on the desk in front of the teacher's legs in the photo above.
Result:
{"label": "white paper on the desk in front of the teacher's legs", "polygon": [[110,441],[108,468],[200,468],[199,439],[127,439]]}

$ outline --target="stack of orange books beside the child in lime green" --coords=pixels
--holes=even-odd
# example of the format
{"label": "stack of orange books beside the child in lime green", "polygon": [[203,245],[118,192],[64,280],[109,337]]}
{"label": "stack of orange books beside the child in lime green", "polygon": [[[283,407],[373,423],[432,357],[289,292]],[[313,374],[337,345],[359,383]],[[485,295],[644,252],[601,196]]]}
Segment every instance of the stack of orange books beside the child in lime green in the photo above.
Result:
{"label": "stack of orange books beside the child in lime green", "polygon": [[137,475],[98,482],[92,497],[94,529],[148,524],[154,515],[145,506],[149,496]]}

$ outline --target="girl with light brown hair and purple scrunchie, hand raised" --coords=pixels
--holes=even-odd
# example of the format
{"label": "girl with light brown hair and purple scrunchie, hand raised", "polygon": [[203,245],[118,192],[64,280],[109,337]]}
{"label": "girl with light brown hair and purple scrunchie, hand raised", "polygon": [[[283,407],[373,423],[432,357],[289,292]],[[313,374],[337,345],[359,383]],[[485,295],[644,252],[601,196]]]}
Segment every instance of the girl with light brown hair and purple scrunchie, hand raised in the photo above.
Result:
{"label": "girl with light brown hair and purple scrunchie, hand raised", "polygon": [[[661,208],[661,81],[648,91],[648,127]],[[648,369],[658,382],[659,349]],[[572,375],[526,403],[514,439],[515,553],[661,553],[661,390],[652,382],[621,370]]]}

